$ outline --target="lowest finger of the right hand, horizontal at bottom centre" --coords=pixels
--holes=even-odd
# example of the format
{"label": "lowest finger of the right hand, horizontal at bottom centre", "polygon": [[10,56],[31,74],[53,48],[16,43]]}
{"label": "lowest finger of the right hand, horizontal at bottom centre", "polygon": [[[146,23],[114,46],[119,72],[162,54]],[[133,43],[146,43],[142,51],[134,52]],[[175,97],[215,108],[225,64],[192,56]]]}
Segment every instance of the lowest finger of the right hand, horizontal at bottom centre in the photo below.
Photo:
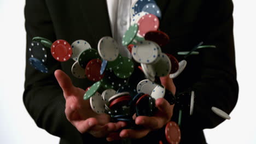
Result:
{"label": "lowest finger of the right hand, horizontal at bottom centre", "polygon": [[121,138],[140,139],[149,133],[150,129],[124,129],[120,132]]}

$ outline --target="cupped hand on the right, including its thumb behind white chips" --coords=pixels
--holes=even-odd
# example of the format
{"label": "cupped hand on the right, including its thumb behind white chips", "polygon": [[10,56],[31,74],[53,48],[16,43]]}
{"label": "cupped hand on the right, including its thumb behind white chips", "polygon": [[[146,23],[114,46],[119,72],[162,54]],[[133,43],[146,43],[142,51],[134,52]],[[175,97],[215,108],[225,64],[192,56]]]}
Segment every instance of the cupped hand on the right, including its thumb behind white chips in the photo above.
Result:
{"label": "cupped hand on the right, including its thumb behind white chips", "polygon": [[[160,80],[165,88],[175,94],[176,87],[169,76],[160,77]],[[120,133],[112,133],[108,135],[107,140],[113,141],[125,138],[141,139],[150,131],[164,127],[164,125],[171,120],[174,105],[170,105],[164,98],[159,98],[155,101],[155,106],[158,108],[158,111],[153,117],[138,116],[135,118],[135,123],[137,125],[142,125],[143,129],[124,129],[121,130]]]}

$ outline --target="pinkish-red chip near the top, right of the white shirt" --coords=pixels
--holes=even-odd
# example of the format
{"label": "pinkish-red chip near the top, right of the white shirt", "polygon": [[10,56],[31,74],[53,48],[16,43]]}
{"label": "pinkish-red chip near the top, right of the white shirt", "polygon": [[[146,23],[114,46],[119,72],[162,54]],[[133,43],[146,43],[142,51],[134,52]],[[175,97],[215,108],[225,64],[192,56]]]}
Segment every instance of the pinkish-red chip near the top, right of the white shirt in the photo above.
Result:
{"label": "pinkish-red chip near the top, right of the white shirt", "polygon": [[144,15],[138,21],[138,33],[143,37],[149,31],[156,31],[159,28],[159,20],[153,14]]}

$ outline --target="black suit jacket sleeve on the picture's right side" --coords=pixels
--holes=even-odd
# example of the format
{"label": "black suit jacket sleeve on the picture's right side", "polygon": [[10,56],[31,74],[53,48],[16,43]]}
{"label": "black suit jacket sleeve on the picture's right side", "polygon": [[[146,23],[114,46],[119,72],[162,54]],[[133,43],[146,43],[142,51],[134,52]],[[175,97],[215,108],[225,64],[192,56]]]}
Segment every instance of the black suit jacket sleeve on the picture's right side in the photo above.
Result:
{"label": "black suit jacket sleeve on the picture's right side", "polygon": [[[209,1],[207,12],[202,19],[201,31],[204,45],[215,45],[216,49],[201,49],[199,79],[192,85],[195,91],[194,114],[188,125],[196,129],[214,128],[225,119],[212,112],[216,106],[230,113],[237,102],[238,85],[236,81],[233,4],[232,1]],[[189,62],[188,62],[189,63]],[[190,77],[192,77],[190,75]]]}

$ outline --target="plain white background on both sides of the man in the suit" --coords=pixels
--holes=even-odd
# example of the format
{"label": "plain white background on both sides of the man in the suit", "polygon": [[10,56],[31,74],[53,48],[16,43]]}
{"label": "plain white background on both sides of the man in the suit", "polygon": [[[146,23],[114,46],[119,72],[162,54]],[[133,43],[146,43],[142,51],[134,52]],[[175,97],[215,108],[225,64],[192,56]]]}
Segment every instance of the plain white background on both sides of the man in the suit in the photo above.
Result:
{"label": "plain white background on both sides of the man in the suit", "polygon": [[[251,0],[234,0],[238,103],[231,119],[205,130],[208,143],[256,143],[256,18]],[[22,102],[25,71],[25,1],[0,1],[0,143],[58,143],[37,128]],[[191,142],[193,143],[193,142]]]}

